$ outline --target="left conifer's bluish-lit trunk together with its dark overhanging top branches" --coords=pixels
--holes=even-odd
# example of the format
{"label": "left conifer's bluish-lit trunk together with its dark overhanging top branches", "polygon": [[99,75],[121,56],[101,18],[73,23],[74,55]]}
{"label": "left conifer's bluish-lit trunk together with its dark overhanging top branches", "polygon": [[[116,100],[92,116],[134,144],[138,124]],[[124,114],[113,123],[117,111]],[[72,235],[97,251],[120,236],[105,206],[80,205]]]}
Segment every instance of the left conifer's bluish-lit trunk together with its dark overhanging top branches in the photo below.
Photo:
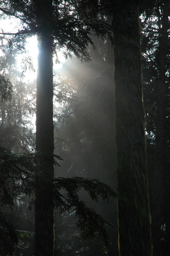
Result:
{"label": "left conifer's bluish-lit trunk together with its dark overhanging top branches", "polygon": [[[53,170],[53,53],[65,47],[66,55],[89,60],[90,34],[110,33],[110,27],[98,22],[85,1],[1,1],[0,10],[22,21],[18,33],[2,35],[38,36],[38,76],[36,100],[36,152],[40,155],[35,184],[35,255],[54,253],[54,170]],[[89,8],[90,2],[87,1]],[[96,7],[96,6],[95,6]]]}

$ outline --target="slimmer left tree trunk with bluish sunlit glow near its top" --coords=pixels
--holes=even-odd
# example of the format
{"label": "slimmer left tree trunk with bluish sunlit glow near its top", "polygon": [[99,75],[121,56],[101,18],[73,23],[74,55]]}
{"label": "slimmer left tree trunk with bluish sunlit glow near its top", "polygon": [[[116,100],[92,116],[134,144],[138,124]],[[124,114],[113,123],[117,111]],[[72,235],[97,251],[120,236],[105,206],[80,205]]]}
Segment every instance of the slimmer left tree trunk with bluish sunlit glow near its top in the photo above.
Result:
{"label": "slimmer left tree trunk with bluish sunlit glow near its top", "polygon": [[52,1],[35,1],[38,34],[38,73],[36,92],[36,152],[40,163],[35,184],[35,255],[54,255],[53,195],[53,37],[50,33]]}

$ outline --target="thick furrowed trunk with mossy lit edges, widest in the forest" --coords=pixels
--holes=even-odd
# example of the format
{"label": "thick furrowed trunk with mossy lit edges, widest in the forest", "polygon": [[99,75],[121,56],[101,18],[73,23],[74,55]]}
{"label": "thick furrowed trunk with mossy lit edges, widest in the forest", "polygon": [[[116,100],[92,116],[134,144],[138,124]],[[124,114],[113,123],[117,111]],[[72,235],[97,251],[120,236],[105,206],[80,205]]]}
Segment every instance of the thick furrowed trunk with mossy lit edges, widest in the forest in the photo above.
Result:
{"label": "thick furrowed trunk with mossy lit edges, widest in the forest", "polygon": [[151,256],[137,1],[115,1],[113,12],[119,253]]}

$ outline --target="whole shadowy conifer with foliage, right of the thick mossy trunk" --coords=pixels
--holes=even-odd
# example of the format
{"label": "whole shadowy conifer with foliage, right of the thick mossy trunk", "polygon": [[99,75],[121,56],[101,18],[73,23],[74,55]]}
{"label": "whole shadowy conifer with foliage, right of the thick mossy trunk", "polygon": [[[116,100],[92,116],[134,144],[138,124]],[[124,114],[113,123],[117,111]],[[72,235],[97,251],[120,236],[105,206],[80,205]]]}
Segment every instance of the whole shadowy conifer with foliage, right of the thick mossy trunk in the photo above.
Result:
{"label": "whole shadowy conifer with foliage, right of the thick mossy trunk", "polygon": [[[147,7],[147,4],[146,4]],[[142,62],[153,255],[169,251],[169,1],[142,14]]]}

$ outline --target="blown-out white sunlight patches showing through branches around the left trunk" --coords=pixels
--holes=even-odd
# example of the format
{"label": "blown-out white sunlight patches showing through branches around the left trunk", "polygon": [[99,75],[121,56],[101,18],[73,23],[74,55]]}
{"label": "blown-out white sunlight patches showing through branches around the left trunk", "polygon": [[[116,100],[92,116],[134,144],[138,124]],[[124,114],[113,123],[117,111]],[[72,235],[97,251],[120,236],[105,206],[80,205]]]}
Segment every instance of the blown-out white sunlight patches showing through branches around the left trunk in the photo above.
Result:
{"label": "blown-out white sunlight patches showing through branches around the left trunk", "polygon": [[[3,33],[17,33],[18,29],[22,29],[20,22],[16,18],[8,18],[1,20],[0,24],[0,32]],[[1,38],[4,37],[0,35]],[[4,45],[8,42],[9,36],[5,36],[3,39]],[[34,88],[36,87],[36,76],[37,76],[37,65],[38,65],[38,42],[36,35],[32,37],[28,37],[26,39],[25,44],[25,52],[21,52],[18,50],[18,54],[15,55],[15,67],[16,70],[19,71],[18,73],[18,81],[20,80],[26,84],[34,84]],[[12,45],[13,49],[18,48],[18,45],[15,43]],[[9,49],[5,49],[6,52]],[[1,54],[4,54],[0,50]],[[56,61],[56,59],[58,61]],[[57,62],[57,63],[56,63]],[[62,52],[59,50],[56,56],[53,57],[53,70],[54,72],[58,71],[58,69],[62,68],[63,63],[65,63],[65,57],[63,56]],[[15,86],[13,87],[15,88]],[[15,90],[15,89],[14,89]],[[32,95],[27,95],[27,98],[31,101]],[[55,102],[55,105],[57,103]],[[58,104],[57,104],[58,106]],[[27,120],[29,121],[27,127],[32,128],[32,131],[35,132],[35,122],[36,122],[36,114],[32,113],[27,116]]]}

